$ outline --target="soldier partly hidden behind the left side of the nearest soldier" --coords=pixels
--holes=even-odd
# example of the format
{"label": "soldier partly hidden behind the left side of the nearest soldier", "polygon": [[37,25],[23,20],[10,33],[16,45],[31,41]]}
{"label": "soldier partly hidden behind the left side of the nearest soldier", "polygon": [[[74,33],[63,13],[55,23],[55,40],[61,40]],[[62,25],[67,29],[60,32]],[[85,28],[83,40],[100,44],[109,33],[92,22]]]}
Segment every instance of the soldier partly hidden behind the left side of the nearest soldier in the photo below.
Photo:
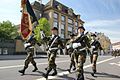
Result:
{"label": "soldier partly hidden behind the left side of the nearest soldier", "polygon": [[76,66],[75,66],[75,54],[74,54],[74,49],[72,48],[72,43],[75,39],[75,34],[71,34],[70,35],[70,40],[67,43],[67,52],[70,56],[71,62],[70,62],[70,68],[68,69],[69,72],[71,72],[71,68],[72,66],[74,67],[73,70],[76,70]]}

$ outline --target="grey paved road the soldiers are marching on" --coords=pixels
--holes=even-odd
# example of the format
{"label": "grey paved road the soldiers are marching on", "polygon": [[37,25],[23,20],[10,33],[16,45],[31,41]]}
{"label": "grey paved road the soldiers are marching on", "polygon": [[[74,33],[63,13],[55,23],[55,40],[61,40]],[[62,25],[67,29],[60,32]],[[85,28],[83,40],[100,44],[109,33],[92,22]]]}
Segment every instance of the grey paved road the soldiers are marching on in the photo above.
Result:
{"label": "grey paved road the soldiers are marching on", "polygon": [[[23,59],[19,60],[1,60],[0,61],[0,80],[45,80],[42,74],[47,67],[47,58],[35,59],[39,70],[32,72],[33,66],[29,66],[26,70],[26,75],[21,76],[18,70],[23,68]],[[75,80],[76,73],[71,74],[66,71],[69,68],[69,56],[58,56],[57,63],[57,76],[49,76],[49,80]],[[99,56],[97,62],[97,74],[95,77],[91,76],[91,65],[89,57],[87,57],[84,71],[85,80],[120,80],[120,57],[114,58],[111,56]]]}

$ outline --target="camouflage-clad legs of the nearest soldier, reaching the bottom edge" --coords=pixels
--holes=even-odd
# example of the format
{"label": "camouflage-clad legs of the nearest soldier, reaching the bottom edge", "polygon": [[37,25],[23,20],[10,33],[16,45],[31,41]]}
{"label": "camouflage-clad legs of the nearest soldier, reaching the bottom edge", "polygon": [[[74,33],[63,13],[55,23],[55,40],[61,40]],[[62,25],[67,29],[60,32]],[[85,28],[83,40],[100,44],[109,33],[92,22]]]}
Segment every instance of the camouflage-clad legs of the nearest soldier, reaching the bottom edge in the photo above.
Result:
{"label": "camouflage-clad legs of the nearest soldier, reaching the bottom edge", "polygon": [[86,60],[86,56],[80,54],[78,57],[78,65],[77,65],[77,80],[84,80],[83,65],[85,63],[85,60]]}

